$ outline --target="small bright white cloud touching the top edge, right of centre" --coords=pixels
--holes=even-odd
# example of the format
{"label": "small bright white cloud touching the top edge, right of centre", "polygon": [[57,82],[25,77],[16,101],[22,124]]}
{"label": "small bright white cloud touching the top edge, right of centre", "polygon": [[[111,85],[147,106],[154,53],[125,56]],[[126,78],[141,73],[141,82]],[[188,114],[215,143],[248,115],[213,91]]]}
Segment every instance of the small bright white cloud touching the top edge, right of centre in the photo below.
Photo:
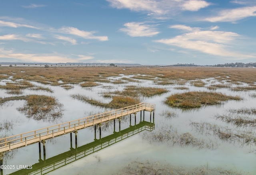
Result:
{"label": "small bright white cloud touching the top edge, right of centre", "polygon": [[182,5],[183,10],[198,11],[201,8],[208,7],[210,3],[203,0],[188,0]]}

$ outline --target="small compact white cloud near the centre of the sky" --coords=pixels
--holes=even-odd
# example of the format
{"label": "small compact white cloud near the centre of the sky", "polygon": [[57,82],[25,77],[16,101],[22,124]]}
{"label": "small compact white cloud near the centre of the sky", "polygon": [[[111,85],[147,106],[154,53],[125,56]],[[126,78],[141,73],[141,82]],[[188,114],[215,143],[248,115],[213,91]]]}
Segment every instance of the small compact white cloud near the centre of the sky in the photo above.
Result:
{"label": "small compact white cloud near the centre of the sky", "polygon": [[122,28],[120,31],[131,37],[151,37],[159,33],[153,26],[141,22],[128,22],[124,26],[126,28]]}

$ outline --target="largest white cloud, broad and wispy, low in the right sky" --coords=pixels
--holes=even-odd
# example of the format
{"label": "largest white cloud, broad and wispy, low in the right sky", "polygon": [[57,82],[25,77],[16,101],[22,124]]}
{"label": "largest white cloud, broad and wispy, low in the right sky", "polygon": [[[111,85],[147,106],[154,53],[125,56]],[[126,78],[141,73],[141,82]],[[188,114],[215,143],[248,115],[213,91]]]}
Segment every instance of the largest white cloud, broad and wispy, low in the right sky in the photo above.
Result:
{"label": "largest white cloud, broad and wispy, low in the right sky", "polygon": [[245,59],[255,57],[230,50],[232,42],[238,39],[240,35],[226,31],[192,31],[178,35],[170,39],[159,39],[155,42],[166,45],[174,45],[184,49],[191,49],[210,55],[222,57],[233,57],[235,59]]}

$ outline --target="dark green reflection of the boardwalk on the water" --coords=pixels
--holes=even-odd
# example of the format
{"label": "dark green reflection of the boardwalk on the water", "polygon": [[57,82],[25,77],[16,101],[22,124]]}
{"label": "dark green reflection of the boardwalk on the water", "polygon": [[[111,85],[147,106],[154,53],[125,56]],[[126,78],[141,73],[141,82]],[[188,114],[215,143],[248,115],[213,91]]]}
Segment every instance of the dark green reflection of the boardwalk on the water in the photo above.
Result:
{"label": "dark green reflection of the boardwalk on the water", "polygon": [[[50,173],[51,171],[59,169],[60,167],[64,167],[65,165],[68,165],[78,159],[86,157],[87,155],[90,155],[101,149],[104,149],[113,144],[116,144],[117,142],[120,142],[126,138],[134,136],[135,134],[138,134],[144,130],[152,131],[154,130],[154,127],[155,127],[154,122],[152,123],[152,122],[147,122],[142,120],[138,124],[134,126],[130,125],[128,128],[124,130],[119,130],[118,132],[115,131],[115,127],[114,127],[113,134],[106,136],[104,138],[96,139],[96,135],[95,135],[94,142],[88,143],[84,146],[77,147],[77,142],[76,142],[75,148],[74,148],[71,141],[69,151],[61,153],[49,159],[45,159],[45,156],[44,156],[44,160],[41,159],[41,155],[39,154],[39,162],[32,165],[32,169],[29,169],[29,167],[28,169],[20,169],[14,173],[11,173],[10,175],[21,175],[21,174],[22,175],[27,175],[27,174],[42,175],[42,174]],[[70,136],[72,136],[72,134]],[[72,137],[71,137],[71,140],[72,140]]]}

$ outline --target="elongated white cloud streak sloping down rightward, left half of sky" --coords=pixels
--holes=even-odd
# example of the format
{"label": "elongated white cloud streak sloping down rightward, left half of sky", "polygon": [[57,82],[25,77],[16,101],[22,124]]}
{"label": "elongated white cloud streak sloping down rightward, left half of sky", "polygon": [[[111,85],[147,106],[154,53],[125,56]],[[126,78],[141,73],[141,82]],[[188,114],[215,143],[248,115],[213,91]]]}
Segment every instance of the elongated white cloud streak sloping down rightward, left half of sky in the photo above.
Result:
{"label": "elongated white cloud streak sloping down rightward, left half of sky", "polygon": [[73,27],[62,27],[58,30],[60,33],[67,33],[76,36],[83,37],[84,39],[97,39],[99,41],[108,41],[107,36],[95,36],[95,31],[84,31]]}

